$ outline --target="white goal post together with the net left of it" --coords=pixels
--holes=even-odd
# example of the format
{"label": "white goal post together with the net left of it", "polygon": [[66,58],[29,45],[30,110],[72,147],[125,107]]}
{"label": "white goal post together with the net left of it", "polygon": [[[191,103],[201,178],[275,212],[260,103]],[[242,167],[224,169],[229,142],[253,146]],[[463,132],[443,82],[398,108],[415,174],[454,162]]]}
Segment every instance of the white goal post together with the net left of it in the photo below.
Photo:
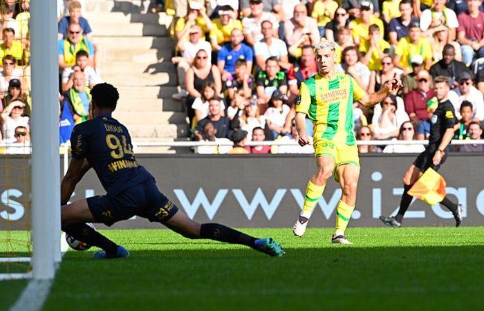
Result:
{"label": "white goal post together with the net left of it", "polygon": [[0,0],[0,280],[51,279],[55,272],[60,234],[55,3]]}

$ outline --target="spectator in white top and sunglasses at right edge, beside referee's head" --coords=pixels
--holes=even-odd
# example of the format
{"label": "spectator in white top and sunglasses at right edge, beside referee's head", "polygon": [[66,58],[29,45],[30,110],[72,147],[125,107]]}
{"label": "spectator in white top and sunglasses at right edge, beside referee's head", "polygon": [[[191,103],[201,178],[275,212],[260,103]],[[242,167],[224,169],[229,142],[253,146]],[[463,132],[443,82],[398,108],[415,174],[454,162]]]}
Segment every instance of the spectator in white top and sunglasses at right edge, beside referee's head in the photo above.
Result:
{"label": "spectator in white top and sunglasses at right edge, beside referee's head", "polygon": [[[467,100],[472,104],[472,111],[474,112],[474,120],[484,121],[484,98],[483,93],[474,87],[471,75],[464,71],[460,73],[458,77],[458,88],[454,88],[450,93],[455,93],[458,96],[458,101],[454,100],[454,110],[456,111],[456,117],[460,118],[458,111],[460,110],[460,104]],[[449,96],[450,97],[450,96]]]}

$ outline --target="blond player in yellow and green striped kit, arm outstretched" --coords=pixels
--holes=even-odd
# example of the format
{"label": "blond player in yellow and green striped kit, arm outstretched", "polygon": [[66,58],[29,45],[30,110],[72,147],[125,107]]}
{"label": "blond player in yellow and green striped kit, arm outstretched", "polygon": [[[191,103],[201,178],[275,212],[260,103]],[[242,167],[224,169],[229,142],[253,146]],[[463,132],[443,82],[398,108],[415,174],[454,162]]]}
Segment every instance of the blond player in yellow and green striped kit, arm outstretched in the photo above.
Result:
{"label": "blond player in yellow and green striped kit, arm outstretched", "polygon": [[384,100],[402,87],[391,79],[376,93],[367,94],[350,75],[335,73],[335,42],[324,41],[315,46],[318,72],[301,84],[296,102],[296,125],[299,144],[309,144],[306,115],[313,121],[317,171],[308,182],[304,206],[293,232],[303,236],[313,209],[322,196],[326,181],[335,176],[342,188],[336,209],[336,231],[332,243],[351,244],[344,230],[356,202],[360,176],[360,160],[353,133],[353,102],[369,107]]}

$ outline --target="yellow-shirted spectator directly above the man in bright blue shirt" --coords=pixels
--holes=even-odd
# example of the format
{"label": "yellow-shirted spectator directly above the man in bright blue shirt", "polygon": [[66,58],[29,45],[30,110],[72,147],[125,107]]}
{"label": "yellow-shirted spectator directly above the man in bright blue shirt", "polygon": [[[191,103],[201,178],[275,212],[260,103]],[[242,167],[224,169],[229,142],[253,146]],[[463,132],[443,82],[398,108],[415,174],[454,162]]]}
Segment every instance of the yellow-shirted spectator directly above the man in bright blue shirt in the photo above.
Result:
{"label": "yellow-shirted spectator directly above the man in bright blue shirt", "polygon": [[221,6],[218,16],[212,21],[214,28],[210,31],[212,50],[221,50],[223,44],[230,42],[232,30],[235,28],[242,30],[242,23],[235,18],[234,9],[231,6]]}

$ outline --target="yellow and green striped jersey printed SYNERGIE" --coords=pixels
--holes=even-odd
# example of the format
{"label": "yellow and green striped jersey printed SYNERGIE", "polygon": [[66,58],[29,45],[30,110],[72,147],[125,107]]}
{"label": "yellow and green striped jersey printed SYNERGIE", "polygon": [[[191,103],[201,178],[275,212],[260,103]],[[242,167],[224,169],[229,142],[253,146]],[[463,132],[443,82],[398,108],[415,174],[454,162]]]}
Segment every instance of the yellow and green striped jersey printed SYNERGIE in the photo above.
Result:
{"label": "yellow and green striped jersey printed SYNERGIE", "polygon": [[316,73],[301,83],[296,112],[305,113],[313,121],[315,141],[324,139],[352,146],[353,102],[365,95],[350,75],[335,73],[329,79]]}

